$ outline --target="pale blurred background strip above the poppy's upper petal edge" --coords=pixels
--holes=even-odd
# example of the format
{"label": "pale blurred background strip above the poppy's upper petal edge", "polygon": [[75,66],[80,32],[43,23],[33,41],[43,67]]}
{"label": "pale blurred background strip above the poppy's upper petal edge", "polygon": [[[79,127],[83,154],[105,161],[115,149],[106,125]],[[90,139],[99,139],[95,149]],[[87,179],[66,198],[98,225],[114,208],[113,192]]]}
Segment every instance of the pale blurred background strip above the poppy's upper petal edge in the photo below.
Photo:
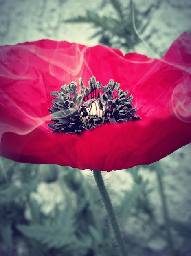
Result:
{"label": "pale blurred background strip above the poppy's upper petal edge", "polygon": [[[88,46],[109,41],[119,48],[121,41],[129,39],[136,52],[161,56],[182,32],[191,29],[189,0],[133,2],[135,27],[145,43],[134,32],[130,0],[0,0],[0,44],[49,38]],[[66,22],[79,16],[87,22]]]}

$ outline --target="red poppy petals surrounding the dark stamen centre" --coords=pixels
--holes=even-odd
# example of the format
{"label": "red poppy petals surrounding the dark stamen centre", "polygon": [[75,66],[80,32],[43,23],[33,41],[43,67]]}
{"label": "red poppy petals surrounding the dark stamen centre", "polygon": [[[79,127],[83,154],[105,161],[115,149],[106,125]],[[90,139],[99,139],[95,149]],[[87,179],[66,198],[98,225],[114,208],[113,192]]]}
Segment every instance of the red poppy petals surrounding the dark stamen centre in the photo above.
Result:
{"label": "red poppy petals surrounding the dark stamen centre", "polygon": [[[51,132],[50,93],[92,76],[120,83],[142,119]],[[0,137],[0,155],[18,162],[111,171],[158,161],[191,142],[191,34],[161,59],[52,40],[0,47]]]}

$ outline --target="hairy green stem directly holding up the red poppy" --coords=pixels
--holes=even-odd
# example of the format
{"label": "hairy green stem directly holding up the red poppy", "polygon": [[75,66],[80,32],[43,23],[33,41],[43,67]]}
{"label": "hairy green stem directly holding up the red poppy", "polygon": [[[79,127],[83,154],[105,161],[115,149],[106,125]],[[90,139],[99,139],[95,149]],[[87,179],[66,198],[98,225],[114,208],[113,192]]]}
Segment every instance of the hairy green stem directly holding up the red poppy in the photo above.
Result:
{"label": "hairy green stem directly holding up the red poppy", "polygon": [[114,209],[112,207],[112,203],[110,201],[108,192],[105,188],[105,184],[104,184],[104,181],[103,181],[103,178],[102,178],[102,175],[101,175],[101,171],[93,170],[93,173],[94,173],[94,178],[95,178],[96,184],[97,184],[98,189],[99,189],[99,193],[101,194],[101,197],[102,197],[103,202],[105,204],[105,208],[106,208],[108,216],[110,218],[110,222],[111,222],[111,225],[112,225],[112,229],[114,231],[116,241],[117,241],[117,243],[119,245],[119,248],[121,250],[121,255],[122,256],[128,256],[127,249],[125,247],[125,244],[123,242],[123,238],[121,236],[121,232],[119,230],[119,225],[117,223],[117,219],[116,219],[116,216],[115,216],[115,213],[114,213]]}

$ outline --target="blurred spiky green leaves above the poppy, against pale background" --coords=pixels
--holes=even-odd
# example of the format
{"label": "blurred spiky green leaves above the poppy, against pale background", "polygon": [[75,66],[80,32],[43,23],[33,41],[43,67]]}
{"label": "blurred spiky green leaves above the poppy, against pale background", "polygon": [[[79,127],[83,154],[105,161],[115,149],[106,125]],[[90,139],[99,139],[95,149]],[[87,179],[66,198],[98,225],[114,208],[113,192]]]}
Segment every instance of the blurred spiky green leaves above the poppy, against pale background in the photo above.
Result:
{"label": "blurred spiky green leaves above the poppy, against pale background", "polygon": [[[132,0],[129,4],[122,4],[118,0],[110,0],[112,13],[101,15],[98,11],[87,10],[86,16],[72,17],[64,22],[90,23],[96,32],[90,38],[99,37],[99,43],[113,48],[125,49],[126,52],[134,50],[134,46],[140,42],[136,27],[140,27],[141,20],[137,18],[137,9]],[[136,20],[132,17],[136,17]],[[136,24],[135,24],[136,22]],[[145,29],[145,24],[141,31]],[[141,32],[140,31],[140,32]]]}

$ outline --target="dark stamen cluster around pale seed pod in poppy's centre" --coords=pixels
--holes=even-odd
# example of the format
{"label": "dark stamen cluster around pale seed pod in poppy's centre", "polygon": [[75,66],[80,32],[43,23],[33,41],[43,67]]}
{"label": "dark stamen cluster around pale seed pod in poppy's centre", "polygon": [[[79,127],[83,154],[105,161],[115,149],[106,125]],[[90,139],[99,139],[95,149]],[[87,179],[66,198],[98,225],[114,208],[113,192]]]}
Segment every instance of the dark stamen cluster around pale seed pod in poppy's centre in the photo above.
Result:
{"label": "dark stamen cluster around pale seed pod in poppy's centre", "polygon": [[[53,123],[48,127],[53,132],[80,134],[104,122],[124,122],[141,119],[136,116],[136,108],[132,107],[133,96],[120,89],[120,84],[110,80],[102,86],[95,77],[90,78],[89,88],[79,79],[80,90],[77,92],[76,82],[63,85],[61,91],[51,92],[53,107],[49,109]],[[102,94],[101,94],[102,88]]]}

